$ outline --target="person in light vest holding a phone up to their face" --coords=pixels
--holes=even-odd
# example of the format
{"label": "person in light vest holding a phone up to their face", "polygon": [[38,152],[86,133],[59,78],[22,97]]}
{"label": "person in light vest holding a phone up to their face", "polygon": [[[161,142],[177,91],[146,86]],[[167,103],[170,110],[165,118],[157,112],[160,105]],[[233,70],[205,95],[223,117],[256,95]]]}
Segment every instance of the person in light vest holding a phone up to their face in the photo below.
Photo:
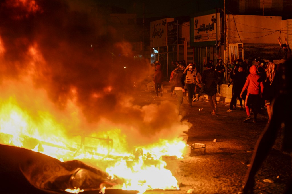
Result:
{"label": "person in light vest holding a phone up to their face", "polygon": [[192,107],[192,99],[193,99],[193,96],[195,95],[195,86],[197,83],[196,72],[193,70],[193,68],[194,68],[194,64],[189,63],[189,65],[187,66],[187,68],[185,68],[183,72],[184,74],[186,74],[185,86],[187,87],[187,91],[188,91],[189,107]]}

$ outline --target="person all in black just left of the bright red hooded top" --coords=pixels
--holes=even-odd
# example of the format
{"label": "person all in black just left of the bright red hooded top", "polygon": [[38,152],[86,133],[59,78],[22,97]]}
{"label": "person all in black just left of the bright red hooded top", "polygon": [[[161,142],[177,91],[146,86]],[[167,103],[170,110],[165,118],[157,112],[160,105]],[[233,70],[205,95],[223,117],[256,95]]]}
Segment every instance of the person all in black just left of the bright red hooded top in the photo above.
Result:
{"label": "person all in black just left of the bright red hooded top", "polygon": [[243,110],[242,99],[240,98],[240,92],[246,80],[246,73],[244,72],[243,66],[239,65],[238,72],[232,72],[232,74],[230,74],[230,78],[231,82],[228,84],[228,87],[230,86],[230,84],[232,84],[232,98],[230,101],[229,110],[227,110],[227,112],[232,112],[233,105],[236,104],[237,98],[241,107],[240,110]]}

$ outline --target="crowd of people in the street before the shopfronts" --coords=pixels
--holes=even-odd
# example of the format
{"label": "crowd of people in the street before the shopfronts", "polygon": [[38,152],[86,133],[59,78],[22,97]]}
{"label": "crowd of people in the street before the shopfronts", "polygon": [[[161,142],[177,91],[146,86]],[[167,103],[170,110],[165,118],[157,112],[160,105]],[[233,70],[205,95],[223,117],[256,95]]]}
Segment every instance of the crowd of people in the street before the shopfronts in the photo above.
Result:
{"label": "crowd of people in the street before the shopfronts", "polygon": [[[278,38],[278,41],[284,51],[283,61],[280,61],[282,63],[291,56],[291,49],[286,38],[285,43],[281,43],[280,38]],[[216,60],[216,65],[214,65],[213,60],[206,63],[206,59],[204,59],[203,62],[203,67],[206,69],[203,70],[201,75],[195,63],[186,64],[184,60],[172,61],[174,70],[171,72],[169,79],[171,84],[170,95],[175,94],[178,97],[178,109],[183,103],[186,91],[189,107],[192,107],[192,102],[198,101],[204,92],[208,95],[212,109],[211,114],[217,115],[219,110],[216,96],[220,96],[220,85],[227,82],[228,87],[232,84],[232,98],[227,112],[233,112],[234,109],[237,109],[238,99],[239,110],[246,111],[244,122],[252,119],[251,114],[253,114],[253,122],[257,122],[258,113],[264,109],[268,112],[270,122],[272,115],[270,105],[277,94],[277,84],[279,82],[277,64],[274,64],[272,59],[257,58],[255,61],[237,59],[226,65],[219,57]],[[156,97],[158,97],[158,92],[160,92],[160,96],[163,92],[161,89],[163,80],[160,70],[161,64],[156,61],[154,67],[156,68],[154,88]],[[225,80],[225,74],[227,74],[227,80]]]}

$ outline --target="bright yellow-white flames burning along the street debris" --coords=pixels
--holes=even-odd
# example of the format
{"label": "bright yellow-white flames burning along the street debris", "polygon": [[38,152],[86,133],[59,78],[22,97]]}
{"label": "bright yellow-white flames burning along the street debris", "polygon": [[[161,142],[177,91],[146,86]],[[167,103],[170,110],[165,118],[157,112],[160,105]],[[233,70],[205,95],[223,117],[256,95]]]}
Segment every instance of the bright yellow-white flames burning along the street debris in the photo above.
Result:
{"label": "bright yellow-white flames burning along the street debris", "polygon": [[[183,140],[160,140],[128,152],[124,140],[126,134],[121,134],[118,128],[90,135],[69,135],[65,133],[66,126],[58,123],[51,112],[43,109],[37,115],[31,114],[32,112],[29,108],[23,108],[15,97],[2,99],[0,143],[31,149],[60,161],[78,159],[90,161],[96,167],[99,167],[100,161],[109,163],[105,166],[105,172],[124,180],[119,189],[137,190],[140,193],[152,189],[179,189],[163,156],[182,158],[182,150],[186,146]],[[81,122],[80,119],[75,119]],[[68,192],[78,193],[82,189]]]}

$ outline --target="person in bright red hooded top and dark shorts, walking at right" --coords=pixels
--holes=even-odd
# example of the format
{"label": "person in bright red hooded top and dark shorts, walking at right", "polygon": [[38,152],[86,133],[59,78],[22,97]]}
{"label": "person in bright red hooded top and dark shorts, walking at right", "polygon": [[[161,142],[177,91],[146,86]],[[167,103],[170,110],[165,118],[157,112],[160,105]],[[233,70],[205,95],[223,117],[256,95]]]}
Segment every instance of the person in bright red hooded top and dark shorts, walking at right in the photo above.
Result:
{"label": "person in bright red hooded top and dark shorts, walking at right", "polygon": [[247,89],[247,94],[245,98],[245,110],[246,110],[246,119],[243,122],[246,122],[251,119],[250,108],[253,106],[254,118],[253,122],[256,123],[258,115],[258,104],[260,103],[260,97],[262,97],[264,91],[263,82],[258,82],[260,75],[257,73],[257,67],[255,65],[249,68],[250,74],[248,74],[244,87],[241,90],[240,97],[242,98],[242,93]]}

